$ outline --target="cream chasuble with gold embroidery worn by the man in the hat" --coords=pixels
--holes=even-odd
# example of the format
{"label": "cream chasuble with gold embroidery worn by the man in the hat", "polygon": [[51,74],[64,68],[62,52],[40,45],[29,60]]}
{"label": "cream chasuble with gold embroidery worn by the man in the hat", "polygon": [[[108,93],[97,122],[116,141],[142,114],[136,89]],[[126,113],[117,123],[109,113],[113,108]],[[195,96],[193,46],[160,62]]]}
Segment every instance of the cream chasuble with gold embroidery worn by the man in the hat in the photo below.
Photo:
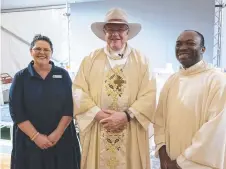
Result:
{"label": "cream chasuble with gold embroidery worn by the man in the hat", "polygon": [[[128,45],[123,58],[108,48],[96,50],[83,60],[73,95],[81,169],[150,169],[148,126],[156,85],[145,57]],[[100,109],[129,110],[134,118],[122,132],[107,132],[94,120]]]}

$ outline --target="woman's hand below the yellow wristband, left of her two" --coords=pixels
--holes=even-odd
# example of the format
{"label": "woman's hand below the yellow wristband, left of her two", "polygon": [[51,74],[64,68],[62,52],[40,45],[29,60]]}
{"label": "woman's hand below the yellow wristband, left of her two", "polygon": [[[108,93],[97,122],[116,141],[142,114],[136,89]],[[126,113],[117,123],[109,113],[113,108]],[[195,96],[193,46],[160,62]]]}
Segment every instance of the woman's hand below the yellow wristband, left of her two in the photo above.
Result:
{"label": "woman's hand below the yellow wristband, left of her two", "polygon": [[44,134],[39,134],[34,139],[34,142],[41,149],[48,149],[49,147],[52,147],[53,146],[52,142]]}

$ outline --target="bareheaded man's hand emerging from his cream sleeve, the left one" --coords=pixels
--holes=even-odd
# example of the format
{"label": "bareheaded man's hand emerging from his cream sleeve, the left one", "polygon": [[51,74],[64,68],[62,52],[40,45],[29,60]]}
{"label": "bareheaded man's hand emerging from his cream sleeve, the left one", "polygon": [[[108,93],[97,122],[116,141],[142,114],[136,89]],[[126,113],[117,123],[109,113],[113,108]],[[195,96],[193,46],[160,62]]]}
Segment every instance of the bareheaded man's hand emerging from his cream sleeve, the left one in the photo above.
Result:
{"label": "bareheaded man's hand emerging from his cream sleeve, the left one", "polygon": [[169,169],[168,164],[171,162],[171,159],[166,152],[165,145],[159,149],[159,158],[160,158],[161,169]]}

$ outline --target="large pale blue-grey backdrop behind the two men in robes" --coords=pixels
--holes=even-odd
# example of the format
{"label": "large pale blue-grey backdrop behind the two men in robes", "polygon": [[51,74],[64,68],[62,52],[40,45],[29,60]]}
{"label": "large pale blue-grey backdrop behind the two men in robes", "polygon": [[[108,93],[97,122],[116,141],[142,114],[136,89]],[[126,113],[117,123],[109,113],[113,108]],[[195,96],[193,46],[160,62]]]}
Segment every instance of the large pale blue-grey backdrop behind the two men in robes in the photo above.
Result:
{"label": "large pale blue-grey backdrop behind the two men in robes", "polygon": [[178,66],[174,48],[176,38],[184,29],[195,29],[204,34],[207,52],[205,59],[212,62],[214,32],[214,0],[108,0],[104,2],[71,5],[71,59],[79,63],[95,48],[105,43],[91,32],[90,25],[103,21],[105,13],[112,7],[127,11],[130,21],[142,24],[141,33],[130,44],[152,60],[154,67],[165,67],[165,63]]}

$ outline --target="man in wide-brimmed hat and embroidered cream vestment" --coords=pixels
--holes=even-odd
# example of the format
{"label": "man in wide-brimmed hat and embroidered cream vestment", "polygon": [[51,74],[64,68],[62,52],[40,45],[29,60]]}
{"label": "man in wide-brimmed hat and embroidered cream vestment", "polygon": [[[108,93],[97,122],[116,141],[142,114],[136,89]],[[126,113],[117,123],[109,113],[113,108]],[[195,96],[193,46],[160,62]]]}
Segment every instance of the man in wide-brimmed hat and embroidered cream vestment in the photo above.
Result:
{"label": "man in wide-brimmed hat and embroidered cream vestment", "polygon": [[81,169],[150,169],[156,84],[147,58],[127,43],[141,25],[114,8],[91,29],[107,45],[84,58],[73,83]]}

